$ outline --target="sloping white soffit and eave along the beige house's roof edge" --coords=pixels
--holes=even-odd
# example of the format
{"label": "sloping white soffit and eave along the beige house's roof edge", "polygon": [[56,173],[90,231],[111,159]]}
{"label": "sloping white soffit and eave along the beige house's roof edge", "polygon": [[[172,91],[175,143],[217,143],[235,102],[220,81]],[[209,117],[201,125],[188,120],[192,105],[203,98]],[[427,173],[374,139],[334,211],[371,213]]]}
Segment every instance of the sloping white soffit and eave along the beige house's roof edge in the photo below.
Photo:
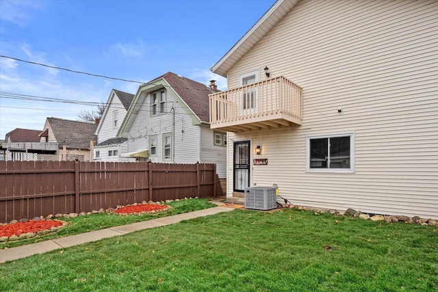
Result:
{"label": "sloping white soffit and eave along the beige house's roof edge", "polygon": [[300,0],[277,0],[271,8],[261,16],[259,21],[225,54],[213,67],[212,72],[227,77],[229,69],[245,55],[263,36],[268,34],[281,19],[294,8]]}

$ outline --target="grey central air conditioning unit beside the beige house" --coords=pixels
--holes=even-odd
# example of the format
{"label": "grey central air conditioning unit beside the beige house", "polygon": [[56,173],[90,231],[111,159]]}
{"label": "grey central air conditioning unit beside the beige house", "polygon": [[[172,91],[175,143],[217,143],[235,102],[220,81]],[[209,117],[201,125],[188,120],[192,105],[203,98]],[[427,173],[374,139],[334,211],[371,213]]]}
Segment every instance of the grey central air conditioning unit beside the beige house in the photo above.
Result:
{"label": "grey central air conditioning unit beside the beige house", "polygon": [[275,187],[246,187],[245,208],[255,210],[276,209]]}

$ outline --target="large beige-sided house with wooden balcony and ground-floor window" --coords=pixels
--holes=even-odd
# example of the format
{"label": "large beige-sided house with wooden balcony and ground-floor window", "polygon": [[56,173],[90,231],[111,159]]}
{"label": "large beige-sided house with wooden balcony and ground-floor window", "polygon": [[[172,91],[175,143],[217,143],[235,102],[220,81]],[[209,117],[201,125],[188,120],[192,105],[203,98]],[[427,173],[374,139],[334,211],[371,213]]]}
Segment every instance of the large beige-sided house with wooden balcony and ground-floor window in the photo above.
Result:
{"label": "large beige-sided house with wooden balcony and ground-floor window", "polygon": [[437,218],[437,32],[438,1],[276,1],[211,68],[227,196]]}

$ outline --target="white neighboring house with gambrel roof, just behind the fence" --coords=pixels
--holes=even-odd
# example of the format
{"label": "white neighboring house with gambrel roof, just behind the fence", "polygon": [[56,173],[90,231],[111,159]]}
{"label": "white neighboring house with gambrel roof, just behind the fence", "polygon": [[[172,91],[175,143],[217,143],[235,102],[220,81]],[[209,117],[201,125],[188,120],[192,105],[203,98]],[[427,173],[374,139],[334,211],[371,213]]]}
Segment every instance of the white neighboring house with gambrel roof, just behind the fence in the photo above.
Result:
{"label": "white neighboring house with gambrel roof, just behind the fence", "polygon": [[127,138],[122,157],[147,157],[155,163],[216,163],[225,177],[227,134],[209,126],[208,94],[218,92],[167,72],[140,85],[118,137]]}

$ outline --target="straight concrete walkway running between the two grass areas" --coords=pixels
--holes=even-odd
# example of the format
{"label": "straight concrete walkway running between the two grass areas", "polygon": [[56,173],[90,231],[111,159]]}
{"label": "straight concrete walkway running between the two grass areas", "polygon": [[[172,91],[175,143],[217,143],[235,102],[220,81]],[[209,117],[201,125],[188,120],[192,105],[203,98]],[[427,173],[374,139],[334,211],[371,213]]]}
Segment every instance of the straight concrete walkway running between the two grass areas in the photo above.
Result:
{"label": "straight concrete walkway running between the two grass areas", "polygon": [[50,252],[51,250],[57,250],[59,248],[69,248],[70,246],[73,245],[78,245],[91,241],[98,241],[108,237],[125,235],[127,233],[133,233],[138,230],[155,228],[159,226],[175,224],[183,220],[190,220],[197,217],[203,217],[203,216],[214,215],[222,212],[233,211],[233,208],[220,207],[220,204],[222,204],[221,202],[214,202],[214,203],[218,204],[219,207],[198,210],[190,213],[172,215],[172,216],[157,218],[153,220],[146,220],[146,221],[136,222],[127,225],[114,226],[111,228],[91,231],[89,233],[81,233],[79,235],[61,237],[61,238],[51,239],[38,243],[22,245],[22,246],[18,246],[17,248],[8,248],[8,250],[0,250],[0,263],[5,263],[6,261],[14,261],[19,258],[32,256],[34,254],[43,254],[44,252]]}

